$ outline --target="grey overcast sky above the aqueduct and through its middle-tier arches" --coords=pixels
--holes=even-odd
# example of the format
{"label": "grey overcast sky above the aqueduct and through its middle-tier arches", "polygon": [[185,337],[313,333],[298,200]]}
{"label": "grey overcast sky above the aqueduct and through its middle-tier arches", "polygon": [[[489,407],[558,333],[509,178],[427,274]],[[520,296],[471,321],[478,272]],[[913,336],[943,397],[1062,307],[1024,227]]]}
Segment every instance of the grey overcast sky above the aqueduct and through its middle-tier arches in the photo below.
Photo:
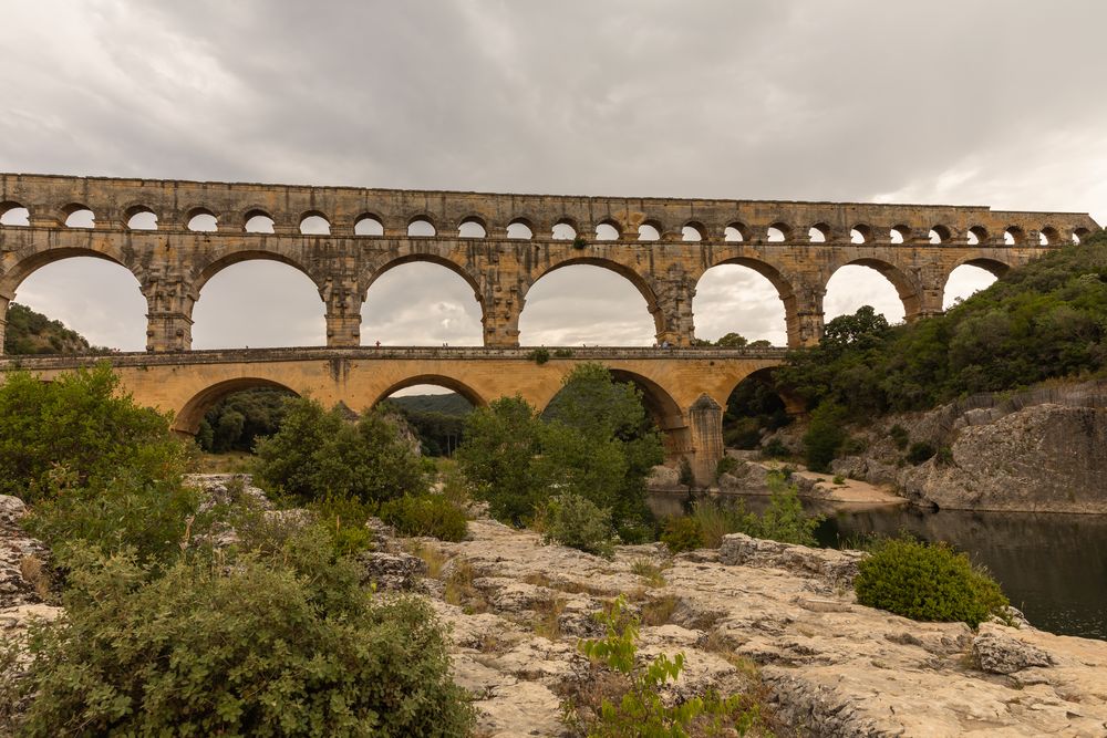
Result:
{"label": "grey overcast sky above the aqueduct and through its middle-tier arches", "polygon": [[[990,205],[1107,222],[1107,2],[34,0],[3,6],[0,170],[566,195]],[[963,268],[946,300],[990,278]],[[17,300],[145,345],[122,268],[56,262]],[[902,305],[863,267],[827,318]],[[716,268],[697,335],[784,342],[767,281]],[[323,343],[289,267],[205,287],[194,345]],[[363,341],[478,344],[472,290],[408,264]],[[649,345],[629,282],[531,289],[524,344]]]}

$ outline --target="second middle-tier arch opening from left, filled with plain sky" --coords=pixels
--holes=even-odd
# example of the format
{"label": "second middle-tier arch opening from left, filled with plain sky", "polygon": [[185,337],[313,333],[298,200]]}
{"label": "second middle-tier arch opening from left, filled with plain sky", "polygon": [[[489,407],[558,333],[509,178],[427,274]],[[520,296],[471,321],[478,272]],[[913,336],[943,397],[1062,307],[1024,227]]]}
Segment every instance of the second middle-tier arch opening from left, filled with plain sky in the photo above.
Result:
{"label": "second middle-tier arch opening from left, filled with plain sky", "polygon": [[325,306],[302,271],[271,254],[215,269],[193,308],[194,349],[327,344]]}

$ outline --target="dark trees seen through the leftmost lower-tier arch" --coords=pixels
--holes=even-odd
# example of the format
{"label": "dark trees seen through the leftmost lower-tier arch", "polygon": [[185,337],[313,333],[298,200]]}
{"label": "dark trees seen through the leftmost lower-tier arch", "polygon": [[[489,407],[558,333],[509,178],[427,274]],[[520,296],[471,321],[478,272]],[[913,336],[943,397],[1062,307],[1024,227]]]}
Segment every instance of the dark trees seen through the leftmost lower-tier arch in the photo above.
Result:
{"label": "dark trees seen through the leftmost lower-tier arch", "polygon": [[286,399],[291,396],[291,392],[278,387],[236,392],[204,414],[196,443],[214,454],[251,451],[257,438],[280,429]]}

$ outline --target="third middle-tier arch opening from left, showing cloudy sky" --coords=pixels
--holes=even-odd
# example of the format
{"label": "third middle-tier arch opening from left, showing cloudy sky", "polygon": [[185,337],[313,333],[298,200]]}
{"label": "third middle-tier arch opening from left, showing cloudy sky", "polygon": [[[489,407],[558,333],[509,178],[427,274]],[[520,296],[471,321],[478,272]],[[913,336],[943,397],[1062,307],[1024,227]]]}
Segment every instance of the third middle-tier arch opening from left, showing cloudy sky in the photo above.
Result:
{"label": "third middle-tier arch opening from left, showing cloudy sky", "polygon": [[431,261],[397,262],[373,280],[361,306],[363,345],[479,346],[482,309],[474,285]]}

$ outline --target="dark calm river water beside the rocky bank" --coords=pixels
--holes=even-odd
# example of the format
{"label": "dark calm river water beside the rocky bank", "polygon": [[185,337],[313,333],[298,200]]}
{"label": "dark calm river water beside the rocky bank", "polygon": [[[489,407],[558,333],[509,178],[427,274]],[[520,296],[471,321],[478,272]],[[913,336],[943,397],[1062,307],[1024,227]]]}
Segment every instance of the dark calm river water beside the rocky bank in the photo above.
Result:
{"label": "dark calm river water beside the rocky bank", "polygon": [[[767,499],[741,497],[751,510]],[[655,493],[650,507],[659,514],[680,514],[682,498]],[[839,548],[851,538],[903,529],[928,541],[948,541],[987,567],[1035,627],[1107,640],[1105,516],[811,507],[828,516],[816,531],[823,545]]]}

